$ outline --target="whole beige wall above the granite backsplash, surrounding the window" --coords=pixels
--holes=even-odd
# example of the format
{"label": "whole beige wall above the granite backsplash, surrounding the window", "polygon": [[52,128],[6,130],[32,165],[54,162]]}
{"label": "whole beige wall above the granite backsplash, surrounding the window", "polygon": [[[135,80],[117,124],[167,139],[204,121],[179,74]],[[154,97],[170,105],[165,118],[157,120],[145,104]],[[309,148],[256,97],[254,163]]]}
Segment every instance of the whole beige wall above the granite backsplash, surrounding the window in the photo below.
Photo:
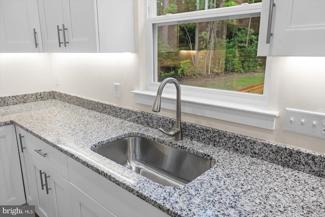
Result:
{"label": "whole beige wall above the granite backsplash, surrounding the window", "polygon": [[[1,96],[41,91],[45,88],[42,79],[31,88],[20,75],[46,75],[43,80],[46,80],[47,88],[151,112],[150,106],[136,104],[131,93],[131,90],[146,88],[145,20],[137,15],[145,14],[144,1],[138,4],[136,9],[139,7],[139,11],[135,13],[136,53],[44,54],[44,64],[38,63],[39,57],[35,56],[28,57],[29,61],[20,58],[12,61],[2,54],[1,63],[5,67],[1,66],[1,84],[8,84],[0,89]],[[40,67],[31,70],[30,65]],[[273,57],[271,71],[269,109],[280,111],[274,131],[185,113],[182,120],[325,153],[325,140],[282,130],[286,107],[325,113],[325,57]],[[53,84],[54,74],[58,75],[59,85]],[[48,80],[51,80],[50,85]],[[114,98],[114,82],[121,84],[120,99]],[[16,91],[9,87],[9,83],[19,83],[23,87]],[[163,109],[159,114],[175,118],[174,111]]]}

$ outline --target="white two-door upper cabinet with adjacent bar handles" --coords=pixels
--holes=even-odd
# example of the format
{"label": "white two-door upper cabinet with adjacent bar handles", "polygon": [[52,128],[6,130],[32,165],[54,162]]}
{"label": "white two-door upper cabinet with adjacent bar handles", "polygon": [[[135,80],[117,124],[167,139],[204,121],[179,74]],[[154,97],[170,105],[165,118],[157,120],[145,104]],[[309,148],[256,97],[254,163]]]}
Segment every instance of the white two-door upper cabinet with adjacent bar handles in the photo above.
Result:
{"label": "white two-door upper cabinet with adjacent bar handles", "polygon": [[44,52],[98,52],[96,1],[38,0]]}

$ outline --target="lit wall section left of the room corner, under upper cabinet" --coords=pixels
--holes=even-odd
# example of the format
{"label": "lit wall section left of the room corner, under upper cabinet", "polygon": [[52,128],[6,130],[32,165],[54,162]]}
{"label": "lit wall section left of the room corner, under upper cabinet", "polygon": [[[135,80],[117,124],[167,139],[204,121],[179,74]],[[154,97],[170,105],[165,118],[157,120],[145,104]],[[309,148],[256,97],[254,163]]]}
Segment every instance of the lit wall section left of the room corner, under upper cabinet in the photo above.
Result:
{"label": "lit wall section left of the room corner, under upper cabinet", "polygon": [[1,53],[0,97],[53,90],[48,53]]}

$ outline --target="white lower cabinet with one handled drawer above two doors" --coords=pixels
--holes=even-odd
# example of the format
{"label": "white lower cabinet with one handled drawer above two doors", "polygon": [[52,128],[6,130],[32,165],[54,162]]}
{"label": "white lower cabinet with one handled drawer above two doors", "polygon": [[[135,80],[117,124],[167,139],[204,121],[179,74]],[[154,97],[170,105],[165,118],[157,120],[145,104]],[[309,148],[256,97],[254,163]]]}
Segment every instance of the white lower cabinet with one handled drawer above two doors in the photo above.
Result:
{"label": "white lower cabinet with one handled drawer above two doors", "polygon": [[16,133],[26,202],[40,217],[72,216],[67,156],[18,127]]}

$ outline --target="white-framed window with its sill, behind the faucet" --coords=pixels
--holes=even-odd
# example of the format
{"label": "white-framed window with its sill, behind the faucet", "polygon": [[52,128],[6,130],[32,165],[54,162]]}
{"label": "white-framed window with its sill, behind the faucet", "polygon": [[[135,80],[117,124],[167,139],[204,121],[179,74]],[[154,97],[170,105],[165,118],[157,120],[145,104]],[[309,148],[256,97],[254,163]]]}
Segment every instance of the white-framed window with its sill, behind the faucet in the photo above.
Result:
{"label": "white-framed window with its sill, behind the faucet", "polygon": [[[134,91],[136,102],[152,104],[139,96],[154,96],[163,79],[174,77],[183,112],[274,129],[279,113],[267,110],[270,58],[256,56],[261,2],[148,0],[148,91]],[[166,85],[166,100],[174,91]]]}

